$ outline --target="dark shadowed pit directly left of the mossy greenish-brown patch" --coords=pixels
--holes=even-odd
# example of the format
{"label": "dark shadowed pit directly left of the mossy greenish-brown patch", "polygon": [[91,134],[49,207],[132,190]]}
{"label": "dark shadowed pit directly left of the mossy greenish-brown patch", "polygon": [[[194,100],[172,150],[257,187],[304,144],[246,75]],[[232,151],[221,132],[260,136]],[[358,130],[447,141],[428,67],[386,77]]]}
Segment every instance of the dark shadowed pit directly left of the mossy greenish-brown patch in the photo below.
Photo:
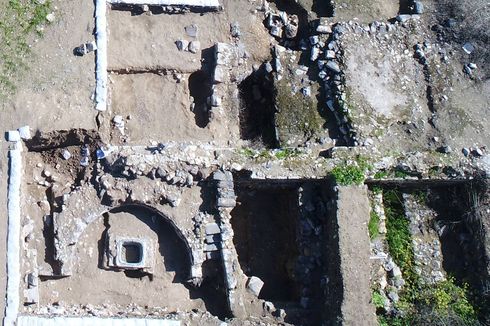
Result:
{"label": "dark shadowed pit directly left of the mossy greenish-brown patch", "polygon": [[260,69],[240,83],[239,91],[241,138],[268,148],[277,148],[272,77]]}

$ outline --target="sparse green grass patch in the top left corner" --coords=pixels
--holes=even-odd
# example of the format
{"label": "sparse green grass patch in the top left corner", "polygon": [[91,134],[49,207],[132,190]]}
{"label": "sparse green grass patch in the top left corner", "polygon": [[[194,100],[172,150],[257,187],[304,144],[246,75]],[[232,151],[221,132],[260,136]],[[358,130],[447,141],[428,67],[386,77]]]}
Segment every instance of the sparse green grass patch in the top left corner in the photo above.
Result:
{"label": "sparse green grass patch in the top left corner", "polygon": [[9,0],[0,7],[0,99],[15,91],[15,79],[27,69],[28,38],[42,33],[51,2]]}

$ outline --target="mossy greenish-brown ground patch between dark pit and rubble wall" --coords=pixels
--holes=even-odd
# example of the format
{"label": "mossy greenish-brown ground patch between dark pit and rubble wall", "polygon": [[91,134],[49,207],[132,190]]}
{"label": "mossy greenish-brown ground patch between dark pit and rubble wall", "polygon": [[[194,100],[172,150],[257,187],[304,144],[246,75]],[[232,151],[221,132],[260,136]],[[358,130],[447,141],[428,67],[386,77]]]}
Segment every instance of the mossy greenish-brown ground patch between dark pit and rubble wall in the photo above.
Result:
{"label": "mossy greenish-brown ground patch between dark pit and rubble wall", "polygon": [[277,133],[282,145],[296,142],[296,137],[301,141],[313,138],[323,130],[325,120],[318,112],[316,97],[293,94],[285,79],[276,84],[276,106]]}

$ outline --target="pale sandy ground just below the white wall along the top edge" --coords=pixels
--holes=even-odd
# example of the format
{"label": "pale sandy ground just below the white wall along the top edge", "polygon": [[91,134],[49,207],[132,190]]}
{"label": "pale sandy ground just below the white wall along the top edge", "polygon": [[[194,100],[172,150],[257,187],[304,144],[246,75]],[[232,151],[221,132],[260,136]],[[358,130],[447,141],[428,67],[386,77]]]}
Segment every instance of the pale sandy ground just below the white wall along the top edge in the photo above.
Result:
{"label": "pale sandy ground just below the white wall along the top edge", "polygon": [[[201,68],[201,52],[179,51],[175,41],[197,40],[201,50],[216,42],[232,43],[230,23],[237,21],[241,42],[251,57],[263,61],[269,56],[269,39],[261,19],[250,13],[254,8],[246,1],[224,1],[226,11],[188,13],[185,15],[132,16],[130,11],[109,11],[109,69],[172,69],[193,72]],[[247,15],[241,13],[247,13]],[[198,26],[197,37],[190,37],[185,27]]]}

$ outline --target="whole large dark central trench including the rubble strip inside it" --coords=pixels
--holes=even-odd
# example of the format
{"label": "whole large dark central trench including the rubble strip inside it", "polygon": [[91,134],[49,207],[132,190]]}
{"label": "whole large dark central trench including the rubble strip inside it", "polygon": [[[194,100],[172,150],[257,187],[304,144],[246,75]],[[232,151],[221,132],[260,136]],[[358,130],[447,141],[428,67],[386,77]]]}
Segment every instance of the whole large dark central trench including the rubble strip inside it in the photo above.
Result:
{"label": "whole large dark central trench including the rubble strip inside it", "polygon": [[286,322],[318,325],[333,296],[328,279],[338,277],[329,264],[334,238],[324,186],[317,182],[235,182],[237,207],[231,212],[234,244],[247,276],[264,286],[259,298],[284,309]]}

